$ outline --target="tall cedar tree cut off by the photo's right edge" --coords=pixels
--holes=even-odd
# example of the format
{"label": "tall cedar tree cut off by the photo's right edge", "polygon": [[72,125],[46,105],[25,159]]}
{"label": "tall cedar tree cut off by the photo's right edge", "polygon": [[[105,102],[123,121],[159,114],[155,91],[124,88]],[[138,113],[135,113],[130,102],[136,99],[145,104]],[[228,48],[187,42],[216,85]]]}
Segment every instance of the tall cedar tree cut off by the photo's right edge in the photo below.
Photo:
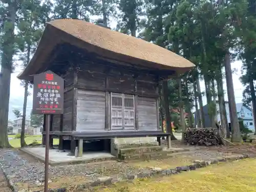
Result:
{"label": "tall cedar tree cut off by the photo's right edge", "polygon": [[256,4],[254,1],[247,1],[247,9],[244,17],[237,22],[237,29],[242,41],[242,52],[240,57],[243,60],[241,82],[245,86],[243,102],[251,106],[253,112],[254,135],[256,135],[256,96],[254,81],[256,80]]}

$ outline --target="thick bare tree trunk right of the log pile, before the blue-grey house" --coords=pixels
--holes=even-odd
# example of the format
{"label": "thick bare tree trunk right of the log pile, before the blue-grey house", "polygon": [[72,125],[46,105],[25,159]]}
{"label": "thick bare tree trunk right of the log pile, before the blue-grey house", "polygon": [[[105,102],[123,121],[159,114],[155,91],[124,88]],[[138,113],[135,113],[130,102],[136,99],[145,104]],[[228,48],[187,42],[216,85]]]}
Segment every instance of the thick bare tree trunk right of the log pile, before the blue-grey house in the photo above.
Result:
{"label": "thick bare tree trunk right of the log pile, before the blue-grey house", "polygon": [[227,96],[228,96],[228,106],[229,106],[229,116],[231,123],[231,142],[240,142],[241,134],[237,116],[236,109],[236,100],[234,99],[234,88],[233,88],[233,79],[232,79],[232,71],[230,65],[230,53],[229,51],[225,54],[225,73],[226,73],[226,82],[227,82]]}

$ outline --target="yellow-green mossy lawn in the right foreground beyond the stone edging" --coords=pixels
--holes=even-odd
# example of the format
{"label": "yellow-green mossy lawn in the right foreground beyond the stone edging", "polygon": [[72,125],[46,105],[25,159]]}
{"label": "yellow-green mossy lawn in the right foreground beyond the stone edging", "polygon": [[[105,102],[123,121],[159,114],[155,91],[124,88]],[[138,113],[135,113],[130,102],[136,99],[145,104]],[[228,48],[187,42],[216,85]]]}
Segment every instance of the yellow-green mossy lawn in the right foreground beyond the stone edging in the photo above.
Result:
{"label": "yellow-green mossy lawn in the right foreground beyond the stone edging", "polygon": [[173,176],[118,183],[97,192],[252,192],[256,191],[256,159],[220,163]]}

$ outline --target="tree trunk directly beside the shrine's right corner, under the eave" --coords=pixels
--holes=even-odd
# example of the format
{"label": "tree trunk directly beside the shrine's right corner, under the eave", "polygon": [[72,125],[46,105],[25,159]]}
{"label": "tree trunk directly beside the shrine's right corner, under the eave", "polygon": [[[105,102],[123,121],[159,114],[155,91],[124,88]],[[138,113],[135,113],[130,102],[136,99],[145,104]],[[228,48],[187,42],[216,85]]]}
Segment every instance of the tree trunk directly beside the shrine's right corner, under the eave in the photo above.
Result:
{"label": "tree trunk directly beside the shrine's right corner, under the eave", "polygon": [[177,140],[173,134],[172,124],[170,119],[170,109],[169,109],[169,94],[168,94],[168,80],[163,81],[163,99],[164,99],[164,111],[165,111],[165,120],[166,120],[166,132],[170,133],[172,140]]}

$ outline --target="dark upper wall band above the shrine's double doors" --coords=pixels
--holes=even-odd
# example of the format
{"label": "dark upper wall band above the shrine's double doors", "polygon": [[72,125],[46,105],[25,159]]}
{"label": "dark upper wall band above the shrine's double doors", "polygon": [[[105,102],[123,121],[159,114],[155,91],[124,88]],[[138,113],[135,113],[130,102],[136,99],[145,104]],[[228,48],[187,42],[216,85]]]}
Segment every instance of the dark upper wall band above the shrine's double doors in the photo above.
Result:
{"label": "dark upper wall band above the shrine's double doors", "polygon": [[[157,97],[157,78],[138,71],[85,63],[79,67],[78,88]],[[137,87],[135,89],[135,87]]]}

